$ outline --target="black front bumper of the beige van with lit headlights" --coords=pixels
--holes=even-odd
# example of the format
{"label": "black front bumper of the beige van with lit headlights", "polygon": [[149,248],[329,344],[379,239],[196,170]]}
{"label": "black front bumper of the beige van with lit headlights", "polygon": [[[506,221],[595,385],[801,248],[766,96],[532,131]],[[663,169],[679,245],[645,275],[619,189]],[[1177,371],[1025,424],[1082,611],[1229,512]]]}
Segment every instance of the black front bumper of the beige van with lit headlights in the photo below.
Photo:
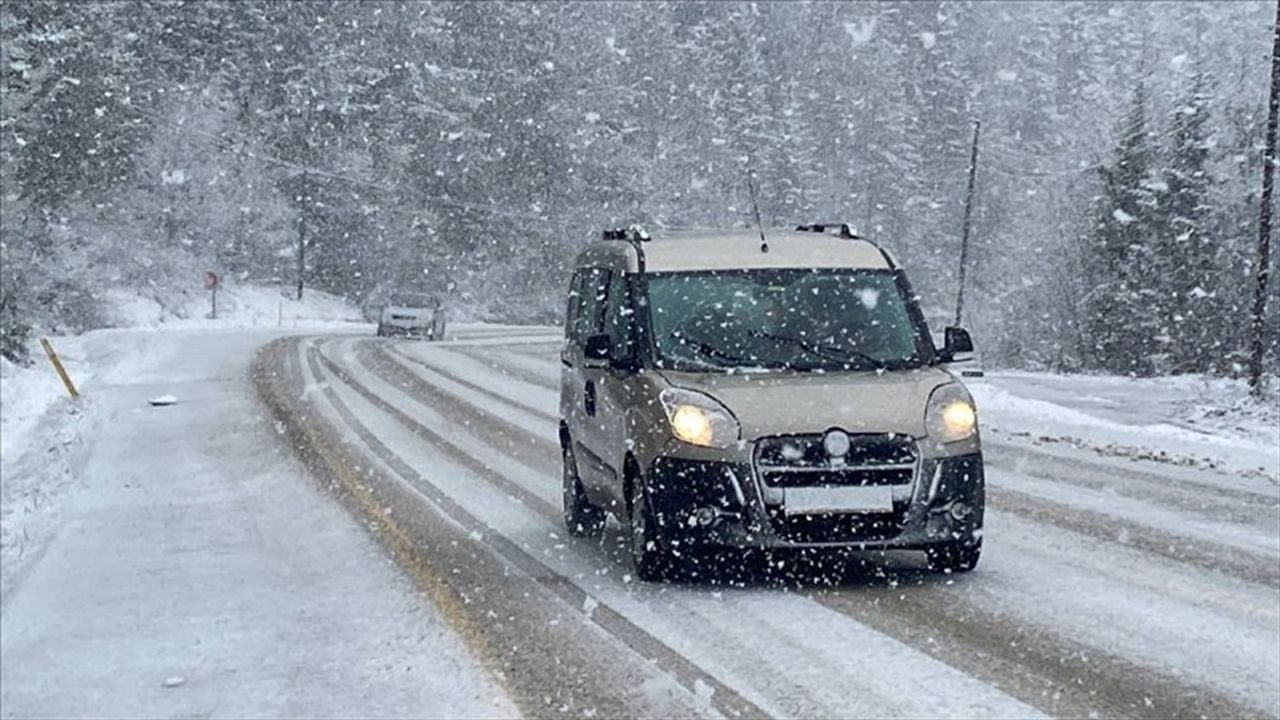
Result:
{"label": "black front bumper of the beige van with lit headlights", "polygon": [[673,547],[922,548],[979,537],[986,503],[980,452],[922,459],[892,512],[788,516],[751,464],[664,456],[646,475],[654,519]]}

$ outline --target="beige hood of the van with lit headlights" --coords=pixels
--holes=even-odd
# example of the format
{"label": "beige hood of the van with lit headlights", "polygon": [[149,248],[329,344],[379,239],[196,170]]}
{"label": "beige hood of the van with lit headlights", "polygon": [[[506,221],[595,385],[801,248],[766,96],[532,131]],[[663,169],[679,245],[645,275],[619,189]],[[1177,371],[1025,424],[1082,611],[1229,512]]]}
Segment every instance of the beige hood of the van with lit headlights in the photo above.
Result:
{"label": "beige hood of the van with lit headlights", "polygon": [[820,433],[900,433],[924,437],[929,393],[955,382],[937,368],[892,373],[676,373],[671,384],[721,401],[742,425],[742,438]]}

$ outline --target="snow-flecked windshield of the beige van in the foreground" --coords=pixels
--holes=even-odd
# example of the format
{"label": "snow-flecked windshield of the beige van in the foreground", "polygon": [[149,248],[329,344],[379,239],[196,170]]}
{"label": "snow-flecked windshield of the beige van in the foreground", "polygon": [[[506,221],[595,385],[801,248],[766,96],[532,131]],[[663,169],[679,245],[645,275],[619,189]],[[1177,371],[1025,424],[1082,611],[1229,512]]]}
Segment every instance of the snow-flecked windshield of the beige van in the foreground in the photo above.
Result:
{"label": "snow-flecked windshield of the beige van in the foreground", "polygon": [[[645,275],[654,361],[689,372],[859,372],[928,361],[890,270],[763,269]],[[918,314],[916,314],[918,315]]]}

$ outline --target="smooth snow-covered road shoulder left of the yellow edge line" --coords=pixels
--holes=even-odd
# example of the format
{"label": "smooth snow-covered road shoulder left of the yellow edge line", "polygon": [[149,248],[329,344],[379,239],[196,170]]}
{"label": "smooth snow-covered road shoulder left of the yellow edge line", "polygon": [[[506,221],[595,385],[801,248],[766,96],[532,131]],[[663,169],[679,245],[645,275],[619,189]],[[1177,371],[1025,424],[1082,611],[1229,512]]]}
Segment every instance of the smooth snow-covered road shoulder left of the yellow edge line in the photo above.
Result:
{"label": "smooth snow-covered road shoulder left of the yellow edge line", "polygon": [[87,337],[120,363],[84,388],[59,524],[6,566],[0,715],[516,714],[280,441],[248,383],[276,334]]}

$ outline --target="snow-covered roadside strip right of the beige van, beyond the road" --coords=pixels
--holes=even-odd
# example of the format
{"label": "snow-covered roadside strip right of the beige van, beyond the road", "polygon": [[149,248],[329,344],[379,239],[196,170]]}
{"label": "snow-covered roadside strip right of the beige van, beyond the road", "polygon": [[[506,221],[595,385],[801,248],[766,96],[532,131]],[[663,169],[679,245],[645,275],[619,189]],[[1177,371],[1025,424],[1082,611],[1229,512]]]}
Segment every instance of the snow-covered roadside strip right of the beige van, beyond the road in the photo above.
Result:
{"label": "snow-covered roadside strip right of the beige van, beyond the road", "polygon": [[983,429],[1001,442],[1216,468],[1280,483],[1280,388],[1240,380],[997,372],[965,378]]}

